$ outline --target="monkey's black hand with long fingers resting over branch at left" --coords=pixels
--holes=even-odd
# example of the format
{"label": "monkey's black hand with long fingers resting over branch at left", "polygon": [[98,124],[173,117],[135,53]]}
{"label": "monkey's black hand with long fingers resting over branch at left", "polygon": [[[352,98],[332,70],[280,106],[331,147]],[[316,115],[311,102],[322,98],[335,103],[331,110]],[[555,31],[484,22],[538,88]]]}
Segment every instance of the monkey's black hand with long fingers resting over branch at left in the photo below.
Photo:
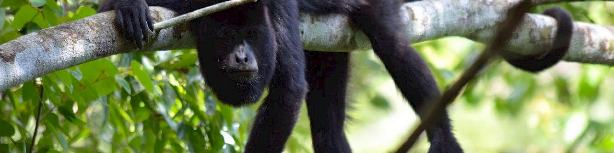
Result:
{"label": "monkey's black hand with long fingers resting over branch at left", "polygon": [[145,0],[106,0],[98,12],[115,10],[115,23],[122,28],[123,37],[141,49],[149,42],[153,20]]}

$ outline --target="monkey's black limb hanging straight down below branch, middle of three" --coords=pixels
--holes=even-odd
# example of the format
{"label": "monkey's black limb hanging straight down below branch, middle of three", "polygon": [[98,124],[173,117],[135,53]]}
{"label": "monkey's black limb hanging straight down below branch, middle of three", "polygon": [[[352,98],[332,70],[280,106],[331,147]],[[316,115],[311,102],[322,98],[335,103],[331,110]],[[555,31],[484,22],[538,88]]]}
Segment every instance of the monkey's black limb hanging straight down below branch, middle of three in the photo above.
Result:
{"label": "monkey's black limb hanging straight down below branch, middle of three", "polygon": [[352,152],[343,132],[349,53],[305,51],[314,152]]}

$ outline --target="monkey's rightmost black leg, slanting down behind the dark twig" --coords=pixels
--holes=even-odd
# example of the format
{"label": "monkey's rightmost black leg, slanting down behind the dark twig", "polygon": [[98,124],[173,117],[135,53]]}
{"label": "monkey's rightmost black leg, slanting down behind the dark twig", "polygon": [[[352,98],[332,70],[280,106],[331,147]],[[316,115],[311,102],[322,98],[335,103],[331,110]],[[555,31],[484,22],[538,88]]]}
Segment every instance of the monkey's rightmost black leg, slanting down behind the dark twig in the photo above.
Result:
{"label": "monkey's rightmost black leg, slanting down behind the dark twig", "polygon": [[[407,40],[405,25],[400,21],[397,1],[370,1],[350,13],[352,20],[371,40],[371,46],[392,76],[397,88],[410,102],[411,107],[423,118],[426,102],[440,96],[429,67]],[[431,143],[429,152],[462,152],[451,132],[450,120],[445,110],[441,118],[427,127]]]}

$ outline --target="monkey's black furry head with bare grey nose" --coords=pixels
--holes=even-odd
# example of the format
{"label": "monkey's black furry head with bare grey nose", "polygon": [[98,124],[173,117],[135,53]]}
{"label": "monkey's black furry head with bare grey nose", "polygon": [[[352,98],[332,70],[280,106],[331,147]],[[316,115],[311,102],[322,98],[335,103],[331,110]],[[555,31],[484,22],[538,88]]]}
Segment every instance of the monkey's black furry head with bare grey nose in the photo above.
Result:
{"label": "monkey's black furry head with bare grey nose", "polygon": [[[201,71],[209,88],[228,105],[257,102],[276,63],[270,24],[235,24],[209,20],[195,29]],[[204,34],[203,34],[204,33]]]}

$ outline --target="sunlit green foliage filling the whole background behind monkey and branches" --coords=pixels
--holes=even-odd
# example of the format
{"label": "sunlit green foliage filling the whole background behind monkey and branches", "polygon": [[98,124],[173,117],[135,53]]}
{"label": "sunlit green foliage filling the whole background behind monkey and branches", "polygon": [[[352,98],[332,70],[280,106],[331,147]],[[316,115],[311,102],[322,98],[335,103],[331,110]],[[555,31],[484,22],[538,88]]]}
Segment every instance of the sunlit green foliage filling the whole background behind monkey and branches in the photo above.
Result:
{"label": "sunlit green foliage filling the whole background behind monkey and branches", "polygon": [[[96,13],[98,0],[0,0],[0,43]],[[550,6],[533,9],[539,13]],[[612,25],[614,3],[562,3],[575,20]],[[484,45],[459,37],[414,44],[440,88]],[[36,152],[241,152],[257,106],[220,104],[204,86],[195,50],[109,56],[0,92],[0,152],[26,152],[41,90]],[[392,151],[417,119],[370,51],[352,53],[356,152]],[[489,65],[449,107],[467,152],[614,151],[614,73],[604,65],[561,62],[532,75]],[[411,152],[426,152],[421,138]],[[286,152],[312,152],[303,106]]]}

